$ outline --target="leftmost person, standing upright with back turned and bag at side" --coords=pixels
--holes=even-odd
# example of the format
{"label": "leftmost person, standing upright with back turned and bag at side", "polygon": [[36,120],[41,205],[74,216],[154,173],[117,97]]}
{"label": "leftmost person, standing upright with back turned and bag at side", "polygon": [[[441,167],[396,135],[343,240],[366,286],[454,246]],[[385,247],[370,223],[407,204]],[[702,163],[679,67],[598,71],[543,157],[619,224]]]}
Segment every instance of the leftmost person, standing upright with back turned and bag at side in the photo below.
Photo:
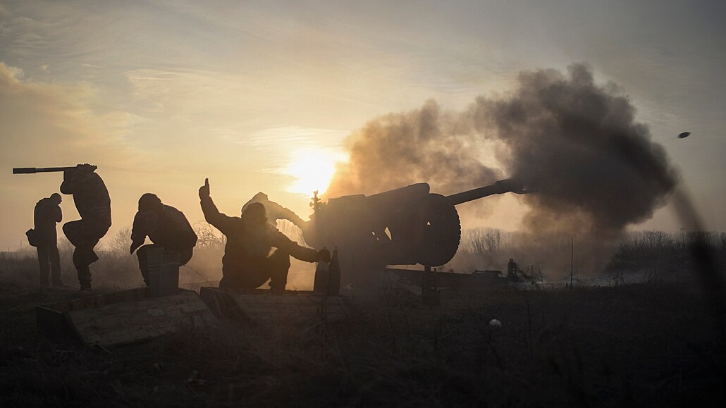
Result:
{"label": "leftmost person, standing upright with back turned and bag at side", "polygon": [[54,192],[36,204],[33,211],[34,243],[38,249],[38,264],[41,269],[41,285],[48,286],[48,272],[51,272],[53,287],[65,287],[60,280],[60,255],[58,254],[55,224],[63,218],[60,194]]}

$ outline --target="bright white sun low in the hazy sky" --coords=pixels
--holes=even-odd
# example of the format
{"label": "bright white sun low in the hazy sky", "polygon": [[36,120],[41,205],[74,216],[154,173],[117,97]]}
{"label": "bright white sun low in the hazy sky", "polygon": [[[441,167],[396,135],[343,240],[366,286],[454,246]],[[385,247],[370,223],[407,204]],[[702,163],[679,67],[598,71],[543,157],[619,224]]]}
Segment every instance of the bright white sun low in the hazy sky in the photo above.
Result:
{"label": "bright white sun low in the hazy sky", "polygon": [[287,187],[289,192],[311,195],[325,192],[335,174],[335,164],[346,160],[342,152],[323,149],[306,149],[293,152],[290,164],[284,173],[295,177]]}

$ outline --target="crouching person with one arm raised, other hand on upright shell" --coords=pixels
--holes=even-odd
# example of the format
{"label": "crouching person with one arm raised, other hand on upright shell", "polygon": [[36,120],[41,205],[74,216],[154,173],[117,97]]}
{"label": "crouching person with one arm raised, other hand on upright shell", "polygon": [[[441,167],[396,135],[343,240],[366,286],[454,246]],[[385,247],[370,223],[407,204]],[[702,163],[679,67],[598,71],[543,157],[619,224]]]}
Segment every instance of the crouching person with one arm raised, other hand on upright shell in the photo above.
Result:
{"label": "crouching person with one arm raised, other hand on upright shell", "polygon": [[209,179],[200,187],[199,198],[207,222],[227,236],[220,287],[253,289],[269,279],[270,289],[280,293],[285,290],[290,268],[287,254],[307,262],[330,261],[327,250],[302,247],[272,227],[261,203],[248,205],[241,218],[226,216],[209,195]]}

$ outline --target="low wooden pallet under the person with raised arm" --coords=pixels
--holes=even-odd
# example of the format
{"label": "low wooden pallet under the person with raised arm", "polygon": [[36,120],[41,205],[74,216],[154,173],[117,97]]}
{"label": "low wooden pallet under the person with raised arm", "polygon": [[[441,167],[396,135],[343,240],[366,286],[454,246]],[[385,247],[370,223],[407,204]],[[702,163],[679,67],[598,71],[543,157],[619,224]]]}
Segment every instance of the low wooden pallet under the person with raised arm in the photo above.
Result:
{"label": "low wooden pallet under the person with raised arm", "polygon": [[273,295],[264,289],[201,287],[199,295],[218,317],[260,325],[340,322],[354,317],[350,298],[285,290]]}

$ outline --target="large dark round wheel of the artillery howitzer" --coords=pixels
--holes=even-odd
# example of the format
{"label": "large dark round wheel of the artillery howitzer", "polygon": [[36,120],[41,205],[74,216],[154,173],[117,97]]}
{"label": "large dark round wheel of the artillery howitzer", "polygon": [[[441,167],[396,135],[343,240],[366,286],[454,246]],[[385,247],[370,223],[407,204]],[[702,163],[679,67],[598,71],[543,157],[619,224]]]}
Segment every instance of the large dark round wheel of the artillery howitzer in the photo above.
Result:
{"label": "large dark round wheel of the artillery howitzer", "polygon": [[441,266],[451,261],[461,240],[461,221],[454,205],[443,195],[429,194],[416,212],[417,262]]}

